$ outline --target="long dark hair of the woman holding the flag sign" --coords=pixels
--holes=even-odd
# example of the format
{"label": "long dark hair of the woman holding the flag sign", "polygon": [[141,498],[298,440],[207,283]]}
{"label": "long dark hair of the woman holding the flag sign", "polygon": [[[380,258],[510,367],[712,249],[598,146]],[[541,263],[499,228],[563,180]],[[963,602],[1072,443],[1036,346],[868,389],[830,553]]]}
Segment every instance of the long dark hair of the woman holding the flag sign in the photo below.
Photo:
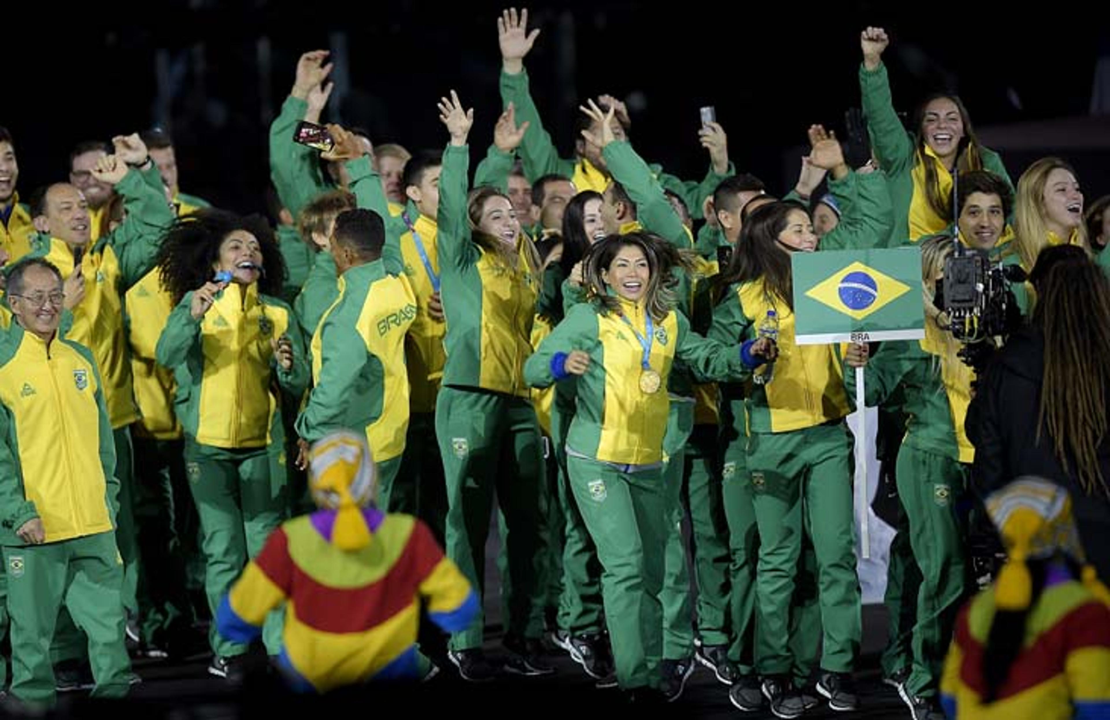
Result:
{"label": "long dark hair of the woman holding the flag sign", "polygon": [[736,241],[736,250],[733,251],[733,260],[722,273],[718,287],[761,280],[768,291],[794,310],[790,256],[783,252],[778,236],[786,230],[789,215],[795,210],[809,216],[809,212],[799,203],[776,201],[757,207],[745,219],[740,237]]}

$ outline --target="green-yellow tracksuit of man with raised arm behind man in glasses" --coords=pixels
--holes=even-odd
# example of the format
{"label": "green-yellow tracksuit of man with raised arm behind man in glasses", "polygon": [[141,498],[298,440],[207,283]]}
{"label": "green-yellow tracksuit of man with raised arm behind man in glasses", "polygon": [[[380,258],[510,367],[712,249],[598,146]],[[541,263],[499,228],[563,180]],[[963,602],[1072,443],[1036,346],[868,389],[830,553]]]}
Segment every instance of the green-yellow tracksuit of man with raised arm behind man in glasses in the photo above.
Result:
{"label": "green-yellow tracksuit of man with raised arm behind man in glasses", "polygon": [[[140,568],[132,513],[134,478],[129,426],[139,419],[139,408],[123,326],[123,296],[154,265],[162,235],[174,215],[153,164],[147,171],[130,170],[115,191],[123,195],[127,216],[119,227],[85,249],[81,258],[84,298],[73,308],[73,326],[67,337],[92,351],[104,378],[104,400],[115,439],[115,476],[120,480],[117,542],[124,564],[123,604],[129,611],[137,612]],[[57,237],[37,235],[31,255],[53,264],[62,277],[73,273],[73,251]]]}

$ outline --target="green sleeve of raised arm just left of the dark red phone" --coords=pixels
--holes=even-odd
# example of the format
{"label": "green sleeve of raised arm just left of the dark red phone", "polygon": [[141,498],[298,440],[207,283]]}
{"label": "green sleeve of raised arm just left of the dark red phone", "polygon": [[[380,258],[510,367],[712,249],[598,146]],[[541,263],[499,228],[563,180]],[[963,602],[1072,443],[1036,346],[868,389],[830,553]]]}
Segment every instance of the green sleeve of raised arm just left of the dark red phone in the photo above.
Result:
{"label": "green sleeve of raised arm just left of the dark red phone", "polygon": [[309,103],[290,95],[270,124],[270,179],[278,199],[293,217],[300,215],[313,197],[327,190],[320,172],[319,153],[293,142],[296,124],[307,110]]}

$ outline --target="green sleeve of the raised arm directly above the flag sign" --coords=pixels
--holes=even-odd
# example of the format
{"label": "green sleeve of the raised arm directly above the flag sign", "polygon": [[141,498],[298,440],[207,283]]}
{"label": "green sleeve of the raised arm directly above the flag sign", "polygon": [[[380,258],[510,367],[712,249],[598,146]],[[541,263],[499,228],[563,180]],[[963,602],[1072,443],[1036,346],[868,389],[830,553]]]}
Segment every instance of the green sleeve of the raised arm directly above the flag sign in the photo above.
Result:
{"label": "green sleeve of the raised arm directly above the flag sign", "polygon": [[830,179],[829,192],[840,209],[840,222],[821,237],[821,250],[871,250],[887,242],[895,215],[881,170]]}

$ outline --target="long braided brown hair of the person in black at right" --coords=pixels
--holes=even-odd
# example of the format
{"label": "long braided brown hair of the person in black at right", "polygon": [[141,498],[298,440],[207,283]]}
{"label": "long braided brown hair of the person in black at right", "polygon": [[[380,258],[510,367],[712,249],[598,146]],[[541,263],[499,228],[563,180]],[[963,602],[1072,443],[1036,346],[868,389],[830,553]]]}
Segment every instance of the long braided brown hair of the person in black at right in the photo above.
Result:
{"label": "long braided brown hair of the person in black at right", "polygon": [[1107,435],[1110,393],[1110,281],[1082,247],[1047,247],[1030,275],[1033,325],[1045,336],[1038,439],[1047,432],[1066,473],[1074,459],[1088,495],[1110,495],[1098,448]]}

